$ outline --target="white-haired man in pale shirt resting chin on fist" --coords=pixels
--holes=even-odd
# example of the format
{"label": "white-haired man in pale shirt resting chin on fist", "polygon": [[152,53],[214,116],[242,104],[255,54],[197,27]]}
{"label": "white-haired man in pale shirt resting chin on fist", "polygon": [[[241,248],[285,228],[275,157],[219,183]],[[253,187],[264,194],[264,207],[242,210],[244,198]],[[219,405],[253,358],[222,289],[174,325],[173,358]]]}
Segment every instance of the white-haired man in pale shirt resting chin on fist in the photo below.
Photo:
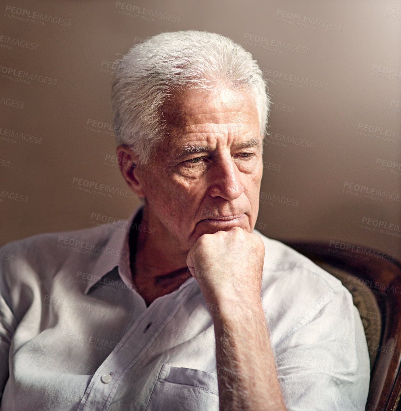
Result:
{"label": "white-haired man in pale shirt resting chin on fist", "polygon": [[362,410],[337,279],[254,230],[269,99],[221,35],[162,33],[113,81],[127,225],[6,245],[1,410]]}

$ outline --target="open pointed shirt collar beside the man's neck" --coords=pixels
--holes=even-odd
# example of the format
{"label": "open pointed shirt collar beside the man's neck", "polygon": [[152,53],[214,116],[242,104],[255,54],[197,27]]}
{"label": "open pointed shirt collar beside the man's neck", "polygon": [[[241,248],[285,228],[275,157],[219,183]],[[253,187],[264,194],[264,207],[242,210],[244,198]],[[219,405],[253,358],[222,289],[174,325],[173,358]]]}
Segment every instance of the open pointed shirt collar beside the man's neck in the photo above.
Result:
{"label": "open pointed shirt collar beside the man's neck", "polygon": [[[88,285],[84,290],[85,295],[88,294],[94,284],[116,266],[118,267],[122,281],[127,284],[129,289],[134,289],[129,264],[129,231],[134,219],[138,217],[139,212],[142,211],[143,205],[144,202],[142,201],[141,204],[136,207],[131,217],[127,221],[124,221],[121,227],[118,225],[113,227],[115,231],[101,248],[102,252],[90,271],[91,275],[88,275],[88,279],[90,278],[90,280],[88,280]],[[140,224],[140,222],[138,222],[138,224]]]}

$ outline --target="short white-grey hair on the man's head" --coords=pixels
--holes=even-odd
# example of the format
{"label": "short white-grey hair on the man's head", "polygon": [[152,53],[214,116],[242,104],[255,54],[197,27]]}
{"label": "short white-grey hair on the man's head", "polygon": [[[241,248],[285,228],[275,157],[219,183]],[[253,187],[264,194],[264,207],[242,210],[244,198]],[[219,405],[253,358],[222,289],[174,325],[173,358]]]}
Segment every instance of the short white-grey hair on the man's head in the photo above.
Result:
{"label": "short white-grey hair on the man's head", "polygon": [[112,83],[117,145],[124,144],[147,164],[168,134],[166,104],[175,92],[218,86],[251,93],[260,135],[267,132],[270,100],[256,60],[228,37],[205,31],[165,32],[133,46],[120,60]]}

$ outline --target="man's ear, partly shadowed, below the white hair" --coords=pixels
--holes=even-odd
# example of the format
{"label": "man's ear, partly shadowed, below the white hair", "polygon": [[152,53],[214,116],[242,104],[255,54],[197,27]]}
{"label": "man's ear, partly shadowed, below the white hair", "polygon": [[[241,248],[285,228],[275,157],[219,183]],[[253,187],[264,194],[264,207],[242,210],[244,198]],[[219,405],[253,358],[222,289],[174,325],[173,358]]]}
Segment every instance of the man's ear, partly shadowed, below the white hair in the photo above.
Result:
{"label": "man's ear, partly shadowed, below the white hair", "polygon": [[124,177],[125,182],[128,184],[131,191],[138,194],[139,197],[146,197],[143,191],[143,183],[140,173],[138,173],[138,155],[127,145],[119,145],[115,152],[119,159],[118,165],[120,171]]}

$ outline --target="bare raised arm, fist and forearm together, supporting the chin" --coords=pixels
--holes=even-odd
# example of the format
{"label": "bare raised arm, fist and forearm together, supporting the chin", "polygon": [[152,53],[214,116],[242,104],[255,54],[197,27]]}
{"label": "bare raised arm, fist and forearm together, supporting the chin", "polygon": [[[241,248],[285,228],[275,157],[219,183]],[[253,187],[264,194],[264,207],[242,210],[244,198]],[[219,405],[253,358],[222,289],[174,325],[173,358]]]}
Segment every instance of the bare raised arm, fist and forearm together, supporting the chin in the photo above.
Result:
{"label": "bare raised arm, fist and forearm together, supporting the chin", "polygon": [[238,227],[203,235],[188,254],[213,317],[221,410],[286,410],[260,301],[263,259],[262,240]]}

